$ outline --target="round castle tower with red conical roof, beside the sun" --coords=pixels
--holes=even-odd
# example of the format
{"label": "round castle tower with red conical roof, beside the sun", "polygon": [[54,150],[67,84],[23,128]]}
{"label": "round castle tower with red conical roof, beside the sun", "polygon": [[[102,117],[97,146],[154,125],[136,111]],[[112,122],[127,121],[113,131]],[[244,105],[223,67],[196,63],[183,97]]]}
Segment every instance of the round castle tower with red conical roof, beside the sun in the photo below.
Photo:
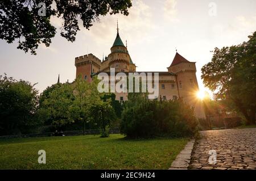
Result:
{"label": "round castle tower with red conical roof, beside the sun", "polygon": [[196,117],[205,117],[203,104],[197,98],[199,86],[196,78],[196,62],[190,62],[176,52],[172,64],[167,68],[176,75],[179,97],[195,108]]}

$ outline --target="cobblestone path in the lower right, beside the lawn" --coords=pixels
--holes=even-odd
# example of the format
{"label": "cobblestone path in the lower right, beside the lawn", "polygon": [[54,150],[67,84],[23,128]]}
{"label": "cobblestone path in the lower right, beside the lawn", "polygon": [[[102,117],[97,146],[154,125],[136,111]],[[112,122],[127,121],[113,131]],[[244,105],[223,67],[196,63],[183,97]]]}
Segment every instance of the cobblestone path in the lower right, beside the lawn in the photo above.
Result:
{"label": "cobblestone path in the lower right, beside the lawn", "polygon": [[[256,128],[200,132],[194,144],[189,169],[256,170]],[[209,163],[216,150],[216,163]],[[212,159],[210,159],[212,160]]]}

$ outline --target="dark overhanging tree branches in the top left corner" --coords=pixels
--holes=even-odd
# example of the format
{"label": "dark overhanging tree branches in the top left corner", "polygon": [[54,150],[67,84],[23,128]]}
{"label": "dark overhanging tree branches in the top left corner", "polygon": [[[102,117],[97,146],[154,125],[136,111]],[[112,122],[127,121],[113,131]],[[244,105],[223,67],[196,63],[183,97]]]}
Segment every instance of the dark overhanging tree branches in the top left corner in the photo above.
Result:
{"label": "dark overhanging tree branches in the top left corner", "polygon": [[0,2],[0,39],[7,43],[19,41],[18,49],[36,54],[40,43],[47,47],[51,44],[56,28],[50,18],[57,16],[63,20],[61,36],[68,41],[75,41],[80,30],[79,18],[89,30],[100,16],[121,14],[128,15],[131,0],[2,0]]}

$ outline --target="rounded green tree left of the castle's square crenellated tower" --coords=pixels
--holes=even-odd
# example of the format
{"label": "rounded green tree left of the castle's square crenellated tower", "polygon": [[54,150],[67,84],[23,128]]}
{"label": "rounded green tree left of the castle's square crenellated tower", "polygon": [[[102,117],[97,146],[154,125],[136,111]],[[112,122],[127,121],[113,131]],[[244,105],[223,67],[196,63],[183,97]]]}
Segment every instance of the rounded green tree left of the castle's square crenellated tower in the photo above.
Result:
{"label": "rounded green tree left of the castle's square crenellated tower", "polygon": [[40,104],[38,112],[42,115],[46,124],[50,124],[55,129],[60,129],[64,125],[75,121],[72,114],[74,100],[72,86],[59,84],[49,92],[47,98]]}

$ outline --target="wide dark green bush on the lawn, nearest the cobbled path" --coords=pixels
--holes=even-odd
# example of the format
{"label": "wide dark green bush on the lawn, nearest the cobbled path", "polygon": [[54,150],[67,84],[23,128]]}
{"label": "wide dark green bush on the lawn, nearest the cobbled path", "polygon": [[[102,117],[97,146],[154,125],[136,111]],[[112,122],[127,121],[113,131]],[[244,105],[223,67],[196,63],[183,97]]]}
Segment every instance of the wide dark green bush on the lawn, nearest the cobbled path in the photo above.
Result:
{"label": "wide dark green bush on the lawn, nearest the cobbled path", "polygon": [[197,120],[181,100],[134,99],[125,104],[120,130],[129,138],[192,136],[197,131]]}

